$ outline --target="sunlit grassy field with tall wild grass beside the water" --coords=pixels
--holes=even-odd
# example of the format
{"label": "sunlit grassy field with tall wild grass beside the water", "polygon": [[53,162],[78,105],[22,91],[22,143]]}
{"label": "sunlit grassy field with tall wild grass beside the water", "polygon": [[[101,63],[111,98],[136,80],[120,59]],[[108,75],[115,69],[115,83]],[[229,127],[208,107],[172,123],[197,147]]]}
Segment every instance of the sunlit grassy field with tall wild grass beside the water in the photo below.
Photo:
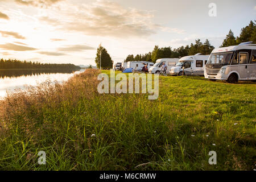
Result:
{"label": "sunlit grassy field with tall wild grass beside the water", "polygon": [[[104,71],[108,73],[108,71]],[[253,170],[256,85],[159,77],[159,97],[99,94],[99,71],[0,104],[3,170]],[[46,152],[46,165],[38,152]],[[209,151],[217,164],[208,163]]]}

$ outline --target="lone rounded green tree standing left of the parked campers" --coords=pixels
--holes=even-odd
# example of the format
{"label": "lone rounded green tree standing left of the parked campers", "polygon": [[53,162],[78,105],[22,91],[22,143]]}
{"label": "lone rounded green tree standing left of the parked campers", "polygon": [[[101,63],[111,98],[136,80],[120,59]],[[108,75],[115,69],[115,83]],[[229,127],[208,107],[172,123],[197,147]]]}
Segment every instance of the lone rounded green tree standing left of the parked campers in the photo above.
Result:
{"label": "lone rounded green tree standing left of the parked campers", "polygon": [[97,53],[95,57],[95,63],[97,68],[100,68],[100,61],[101,61],[101,68],[112,68],[113,67],[113,60],[110,57],[108,51],[104,47],[97,48]]}

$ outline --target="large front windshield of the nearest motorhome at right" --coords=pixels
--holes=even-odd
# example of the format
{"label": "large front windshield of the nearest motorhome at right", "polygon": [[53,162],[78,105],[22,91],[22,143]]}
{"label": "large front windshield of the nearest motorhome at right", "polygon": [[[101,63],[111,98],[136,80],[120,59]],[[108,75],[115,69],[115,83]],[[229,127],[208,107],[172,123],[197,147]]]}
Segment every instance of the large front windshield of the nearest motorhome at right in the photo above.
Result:
{"label": "large front windshield of the nearest motorhome at right", "polygon": [[231,63],[233,52],[211,53],[207,64],[228,65]]}

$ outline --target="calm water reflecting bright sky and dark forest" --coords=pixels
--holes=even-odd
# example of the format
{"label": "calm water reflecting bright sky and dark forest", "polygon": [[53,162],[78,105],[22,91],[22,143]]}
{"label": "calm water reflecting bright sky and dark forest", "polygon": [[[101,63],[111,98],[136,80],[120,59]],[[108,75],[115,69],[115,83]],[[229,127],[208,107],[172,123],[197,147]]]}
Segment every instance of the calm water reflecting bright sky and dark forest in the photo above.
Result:
{"label": "calm water reflecting bright sky and dark forest", "polygon": [[38,85],[46,80],[67,81],[80,71],[0,71],[0,100],[6,96],[6,91],[15,92],[15,89],[24,89],[24,85]]}

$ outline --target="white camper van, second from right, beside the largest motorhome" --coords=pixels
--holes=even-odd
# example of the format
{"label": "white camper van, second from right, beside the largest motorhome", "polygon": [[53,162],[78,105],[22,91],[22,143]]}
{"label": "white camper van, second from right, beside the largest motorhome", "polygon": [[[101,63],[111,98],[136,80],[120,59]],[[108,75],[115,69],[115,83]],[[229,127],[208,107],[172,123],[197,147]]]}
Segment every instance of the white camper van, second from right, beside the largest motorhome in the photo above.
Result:
{"label": "white camper van, second from right, beside the largest motorhome", "polygon": [[209,55],[201,55],[201,53],[197,53],[193,56],[181,57],[179,63],[170,69],[170,74],[177,76],[181,76],[183,74],[192,76],[204,76],[204,68],[208,58]]}

